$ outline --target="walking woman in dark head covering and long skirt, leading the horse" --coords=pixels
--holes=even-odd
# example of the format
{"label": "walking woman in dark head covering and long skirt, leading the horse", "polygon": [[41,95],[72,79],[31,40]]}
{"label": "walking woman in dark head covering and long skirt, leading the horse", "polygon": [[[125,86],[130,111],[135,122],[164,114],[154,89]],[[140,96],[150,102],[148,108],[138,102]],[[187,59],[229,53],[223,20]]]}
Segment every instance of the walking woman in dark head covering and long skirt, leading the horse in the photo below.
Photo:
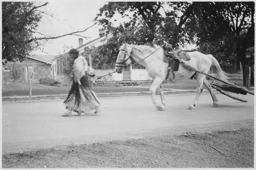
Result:
{"label": "walking woman in dark head covering and long skirt, leading the horse", "polygon": [[84,113],[86,115],[98,115],[99,100],[95,92],[91,89],[89,76],[95,75],[94,70],[88,66],[84,56],[78,55],[76,49],[71,49],[69,55],[75,57],[72,71],[73,85],[69,90],[68,96],[64,103],[68,112],[63,116],[71,116],[71,112],[78,112],[78,115]]}

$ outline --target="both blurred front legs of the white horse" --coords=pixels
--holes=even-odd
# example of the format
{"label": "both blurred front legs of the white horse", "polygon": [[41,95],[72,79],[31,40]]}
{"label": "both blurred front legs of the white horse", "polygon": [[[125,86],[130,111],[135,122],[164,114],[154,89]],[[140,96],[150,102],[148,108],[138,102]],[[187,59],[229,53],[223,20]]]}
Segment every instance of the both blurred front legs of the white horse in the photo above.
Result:
{"label": "both blurred front legs of the white horse", "polygon": [[[156,89],[161,85],[162,82],[163,82],[162,78],[155,78],[153,80],[152,85],[149,88],[149,92],[151,92],[152,102],[156,106],[157,110],[165,110],[165,108],[164,108],[165,100],[164,100],[164,104],[162,101],[161,105],[156,102]],[[163,91],[163,89],[162,89],[162,91]],[[163,92],[163,94],[164,94],[164,92]],[[161,89],[160,89],[160,95],[161,95]],[[161,98],[161,100],[162,100],[162,98]]]}

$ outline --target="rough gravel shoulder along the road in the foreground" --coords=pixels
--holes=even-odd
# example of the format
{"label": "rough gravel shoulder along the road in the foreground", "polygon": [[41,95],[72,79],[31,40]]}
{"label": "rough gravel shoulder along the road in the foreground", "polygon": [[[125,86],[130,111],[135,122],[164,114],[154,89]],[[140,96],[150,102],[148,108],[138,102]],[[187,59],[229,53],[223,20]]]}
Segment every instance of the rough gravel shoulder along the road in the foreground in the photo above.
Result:
{"label": "rough gravel shoulder along the road in the foreground", "polygon": [[252,168],[254,120],[2,155],[2,168]]}

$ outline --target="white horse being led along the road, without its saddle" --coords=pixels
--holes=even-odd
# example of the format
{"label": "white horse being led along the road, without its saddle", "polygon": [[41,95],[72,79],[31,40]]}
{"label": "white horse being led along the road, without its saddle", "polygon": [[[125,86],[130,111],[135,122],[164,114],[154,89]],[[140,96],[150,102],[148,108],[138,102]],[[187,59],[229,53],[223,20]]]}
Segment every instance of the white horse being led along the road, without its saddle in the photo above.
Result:
{"label": "white horse being led along the road, without its saddle", "polygon": [[[187,52],[187,54],[190,56],[190,60],[186,61],[189,65],[195,67],[198,71],[203,73],[207,73],[210,69],[212,69],[217,78],[227,81],[228,78],[225,75],[225,72],[220,68],[220,64],[212,55],[205,55],[198,51]],[[145,45],[123,44],[119,48],[119,54],[116,59],[115,70],[117,73],[122,73],[124,67],[129,66],[132,60],[146,68],[148,76],[153,79],[153,83],[149,89],[151,92],[152,101],[157,110],[164,110],[165,99],[161,84],[167,76],[168,67],[168,63],[164,62],[164,49],[153,48]],[[173,79],[175,75],[175,80],[184,80],[190,78],[195,71],[188,70],[180,63],[179,70],[173,71],[173,73],[174,74],[172,74],[172,71],[170,72],[168,79]],[[189,105],[188,109],[195,109],[200,94],[203,90],[203,84],[209,90],[212,96],[213,107],[218,107],[218,100],[212,91],[210,83],[206,80],[205,75],[196,72],[196,82],[196,98],[194,102]],[[161,104],[158,104],[155,99],[157,89],[160,92]]]}

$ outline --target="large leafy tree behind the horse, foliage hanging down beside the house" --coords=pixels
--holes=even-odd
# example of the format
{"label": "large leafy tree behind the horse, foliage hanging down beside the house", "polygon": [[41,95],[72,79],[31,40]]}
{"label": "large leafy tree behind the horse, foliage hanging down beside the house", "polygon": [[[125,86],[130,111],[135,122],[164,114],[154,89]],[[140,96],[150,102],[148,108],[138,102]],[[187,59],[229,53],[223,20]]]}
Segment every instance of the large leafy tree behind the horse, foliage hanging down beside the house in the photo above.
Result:
{"label": "large leafy tree behind the horse, foliage hanging down beside the house", "polygon": [[[172,8],[168,7],[171,6]],[[190,22],[183,27],[188,17],[181,17],[177,23],[176,18],[180,13],[180,7],[184,12],[189,11],[185,8],[189,6],[186,2],[109,2],[100,8],[95,20],[98,21],[107,33],[113,33],[113,37],[100,47],[92,49],[92,60],[95,68],[113,68],[118,54],[118,47],[122,43],[137,45],[163,45],[171,43],[175,46],[193,42],[193,33],[188,33],[187,38],[183,39],[185,33],[190,31],[195,24]],[[161,14],[161,9],[164,14]],[[174,9],[174,11],[172,11]],[[189,12],[187,12],[189,13]],[[114,26],[111,19],[115,14],[122,17],[129,16],[129,20]],[[179,36],[176,36],[179,35]],[[113,58],[114,57],[114,58]],[[112,63],[111,63],[112,62]],[[140,67],[140,66],[139,66]]]}

